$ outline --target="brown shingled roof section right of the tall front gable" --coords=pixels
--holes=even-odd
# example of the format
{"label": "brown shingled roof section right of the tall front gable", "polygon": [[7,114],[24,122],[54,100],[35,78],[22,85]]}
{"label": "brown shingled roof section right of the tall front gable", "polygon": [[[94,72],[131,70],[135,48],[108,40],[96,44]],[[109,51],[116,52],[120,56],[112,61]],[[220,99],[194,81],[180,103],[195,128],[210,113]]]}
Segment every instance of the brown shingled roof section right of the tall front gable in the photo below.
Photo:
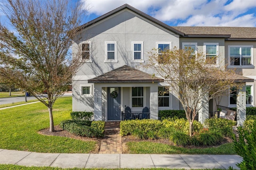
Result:
{"label": "brown shingled roof section right of the tall front gable", "polygon": [[172,27],[183,32],[184,37],[222,37],[228,40],[256,41],[255,27]]}

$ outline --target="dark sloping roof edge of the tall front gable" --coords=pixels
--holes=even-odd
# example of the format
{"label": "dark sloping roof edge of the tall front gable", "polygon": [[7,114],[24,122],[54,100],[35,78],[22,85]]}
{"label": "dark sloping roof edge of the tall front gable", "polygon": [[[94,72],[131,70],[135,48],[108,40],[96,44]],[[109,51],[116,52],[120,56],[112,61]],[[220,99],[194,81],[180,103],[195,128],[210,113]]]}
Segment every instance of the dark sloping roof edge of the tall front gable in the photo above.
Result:
{"label": "dark sloping roof edge of the tall front gable", "polygon": [[159,20],[156,20],[155,18],[153,18],[152,16],[149,16],[148,14],[145,14],[144,12],[141,12],[140,10],[137,10],[136,8],[128,5],[128,4],[124,4],[123,6],[120,6],[119,8],[116,8],[115,10],[112,10],[90,22],[87,22],[86,24],[83,24],[82,26],[80,26],[80,28],[78,28],[78,31],[84,29],[84,28],[87,28],[97,22],[100,22],[101,20],[104,20],[105,18],[108,18],[109,16],[112,16],[113,14],[116,14],[124,9],[128,9],[144,18],[146,18],[147,20],[150,20],[151,22],[154,22],[155,24],[158,24],[159,26],[175,33],[175,34],[178,34],[179,36],[184,36],[184,34],[178,30],[176,30],[175,28],[172,28],[170,26],[168,26],[167,24],[164,24],[163,22],[159,21]]}

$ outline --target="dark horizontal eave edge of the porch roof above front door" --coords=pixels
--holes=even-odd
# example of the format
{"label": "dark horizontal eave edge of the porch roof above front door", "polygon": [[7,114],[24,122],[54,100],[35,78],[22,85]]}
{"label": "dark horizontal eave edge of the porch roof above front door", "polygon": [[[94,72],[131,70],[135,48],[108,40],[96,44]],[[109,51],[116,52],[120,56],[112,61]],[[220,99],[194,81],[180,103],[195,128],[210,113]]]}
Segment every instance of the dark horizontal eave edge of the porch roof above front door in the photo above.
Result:
{"label": "dark horizontal eave edge of the porch roof above front door", "polygon": [[88,83],[160,83],[164,79],[156,80],[88,80]]}

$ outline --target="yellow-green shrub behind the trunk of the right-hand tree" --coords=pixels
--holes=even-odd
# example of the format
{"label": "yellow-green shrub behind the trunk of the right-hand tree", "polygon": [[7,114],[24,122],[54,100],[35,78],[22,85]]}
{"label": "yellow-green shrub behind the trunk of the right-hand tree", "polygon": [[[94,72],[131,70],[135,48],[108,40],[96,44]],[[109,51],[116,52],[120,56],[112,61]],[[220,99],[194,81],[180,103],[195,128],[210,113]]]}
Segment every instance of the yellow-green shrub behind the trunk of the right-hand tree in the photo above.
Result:
{"label": "yellow-green shrub behind the trunk of the right-hand tree", "polygon": [[[189,134],[189,122],[186,119],[172,118],[172,119],[164,119],[162,122],[165,127],[173,127],[176,129],[180,129],[182,130],[182,132]],[[194,126],[194,132],[198,132],[200,129],[203,128],[203,125],[198,121],[194,121],[193,126]]]}

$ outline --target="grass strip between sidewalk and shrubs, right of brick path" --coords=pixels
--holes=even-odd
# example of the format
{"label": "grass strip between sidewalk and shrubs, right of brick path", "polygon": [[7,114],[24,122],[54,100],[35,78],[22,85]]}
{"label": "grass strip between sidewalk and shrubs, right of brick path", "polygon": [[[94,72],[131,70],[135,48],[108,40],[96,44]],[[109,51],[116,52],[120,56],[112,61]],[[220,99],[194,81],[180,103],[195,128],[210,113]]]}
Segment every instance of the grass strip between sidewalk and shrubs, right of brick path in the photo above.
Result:
{"label": "grass strip between sidewalk and shrubs, right of brick path", "polygon": [[218,147],[189,149],[155,142],[127,142],[129,154],[236,154],[233,143]]}

